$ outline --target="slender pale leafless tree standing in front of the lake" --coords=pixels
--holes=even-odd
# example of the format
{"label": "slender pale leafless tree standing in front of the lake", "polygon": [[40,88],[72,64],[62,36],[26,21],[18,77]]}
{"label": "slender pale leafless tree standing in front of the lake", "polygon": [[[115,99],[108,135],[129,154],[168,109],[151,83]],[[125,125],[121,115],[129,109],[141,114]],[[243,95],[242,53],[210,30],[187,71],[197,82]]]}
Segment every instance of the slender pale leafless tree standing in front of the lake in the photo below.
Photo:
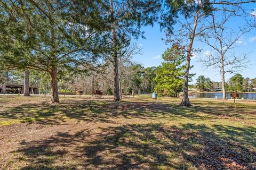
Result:
{"label": "slender pale leafless tree standing in front of the lake", "polygon": [[[215,67],[220,71],[222,82],[222,99],[226,100],[225,74],[236,73],[243,70],[247,64],[247,55],[239,55],[235,52],[238,43],[242,43],[242,36],[249,30],[239,28],[237,31],[226,27],[227,22],[233,17],[233,13],[220,13],[212,15],[210,22],[214,26],[201,36],[201,41],[212,48],[212,51],[201,58],[206,68]],[[219,22],[217,22],[217,20]]]}

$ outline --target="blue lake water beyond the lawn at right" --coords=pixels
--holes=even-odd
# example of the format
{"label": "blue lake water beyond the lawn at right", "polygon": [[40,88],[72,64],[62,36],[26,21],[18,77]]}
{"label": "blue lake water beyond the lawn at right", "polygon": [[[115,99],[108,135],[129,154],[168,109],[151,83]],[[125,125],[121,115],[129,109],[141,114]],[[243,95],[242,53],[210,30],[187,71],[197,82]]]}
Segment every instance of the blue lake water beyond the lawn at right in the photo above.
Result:
{"label": "blue lake water beyond the lawn at right", "polygon": [[[221,99],[222,98],[222,92],[200,92],[194,95],[190,95],[189,97],[191,98],[214,98],[215,96],[217,96],[217,99]],[[227,93],[227,98],[230,99],[230,94]],[[256,100],[256,93],[242,93],[239,94],[238,99],[242,99],[244,98],[245,100],[247,100],[247,98],[249,100]]]}

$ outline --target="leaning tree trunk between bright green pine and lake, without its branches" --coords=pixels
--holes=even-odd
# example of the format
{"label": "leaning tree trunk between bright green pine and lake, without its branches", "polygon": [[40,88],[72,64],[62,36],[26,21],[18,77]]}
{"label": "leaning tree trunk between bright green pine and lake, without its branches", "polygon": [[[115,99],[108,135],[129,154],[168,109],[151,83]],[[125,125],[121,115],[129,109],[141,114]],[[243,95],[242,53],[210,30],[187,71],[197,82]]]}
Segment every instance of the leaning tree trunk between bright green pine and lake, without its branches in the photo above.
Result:
{"label": "leaning tree trunk between bright green pine and lake, without its branches", "polygon": [[190,41],[187,49],[187,64],[186,64],[186,71],[185,71],[184,84],[183,84],[183,98],[180,106],[192,106],[188,98],[188,76],[189,76],[189,69],[190,69],[191,52],[193,48],[194,39],[196,36],[195,32],[197,27],[198,15],[199,15],[199,12],[197,12],[195,15],[193,30],[190,33],[190,37],[189,37]]}

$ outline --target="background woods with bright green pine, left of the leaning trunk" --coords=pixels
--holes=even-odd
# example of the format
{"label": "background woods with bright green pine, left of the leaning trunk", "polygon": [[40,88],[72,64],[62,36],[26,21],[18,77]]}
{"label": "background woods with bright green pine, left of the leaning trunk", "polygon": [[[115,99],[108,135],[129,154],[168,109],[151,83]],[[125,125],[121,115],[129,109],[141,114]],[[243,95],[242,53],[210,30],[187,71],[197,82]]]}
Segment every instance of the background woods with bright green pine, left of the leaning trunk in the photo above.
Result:
{"label": "background woods with bright green pine, left of the leaning trunk", "polygon": [[[131,56],[126,57],[119,64],[120,93],[125,95],[157,92],[159,96],[178,97],[183,88],[186,68],[184,54],[185,51],[178,44],[174,44],[162,55],[164,62],[161,65],[147,68],[133,62]],[[105,66],[102,72],[70,72],[63,69],[57,77],[59,94],[83,91],[86,95],[92,95],[93,90],[101,90],[104,95],[113,95],[115,80],[111,70],[109,66]],[[190,80],[193,75],[190,74]],[[2,71],[0,76],[5,84],[23,84],[25,80],[22,70]],[[29,84],[37,86],[41,94],[51,93],[50,77],[45,72],[30,71]]]}

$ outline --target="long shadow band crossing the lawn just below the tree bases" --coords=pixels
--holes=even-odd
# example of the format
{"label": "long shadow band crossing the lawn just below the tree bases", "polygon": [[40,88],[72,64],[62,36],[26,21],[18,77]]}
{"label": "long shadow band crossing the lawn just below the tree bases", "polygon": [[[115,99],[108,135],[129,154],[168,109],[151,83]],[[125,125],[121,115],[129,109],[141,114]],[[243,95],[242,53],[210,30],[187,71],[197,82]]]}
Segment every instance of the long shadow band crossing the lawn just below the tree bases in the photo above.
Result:
{"label": "long shadow band crossing the lawn just below the tree bases", "polygon": [[81,100],[70,101],[65,104],[23,104],[10,107],[0,112],[0,118],[20,120],[21,122],[37,122],[42,124],[65,123],[66,118],[77,121],[115,123],[114,118],[141,118],[158,120],[170,118],[179,120],[203,120],[206,116],[195,114],[194,109],[182,108],[175,104],[162,104],[153,102],[122,101],[97,101]]}

